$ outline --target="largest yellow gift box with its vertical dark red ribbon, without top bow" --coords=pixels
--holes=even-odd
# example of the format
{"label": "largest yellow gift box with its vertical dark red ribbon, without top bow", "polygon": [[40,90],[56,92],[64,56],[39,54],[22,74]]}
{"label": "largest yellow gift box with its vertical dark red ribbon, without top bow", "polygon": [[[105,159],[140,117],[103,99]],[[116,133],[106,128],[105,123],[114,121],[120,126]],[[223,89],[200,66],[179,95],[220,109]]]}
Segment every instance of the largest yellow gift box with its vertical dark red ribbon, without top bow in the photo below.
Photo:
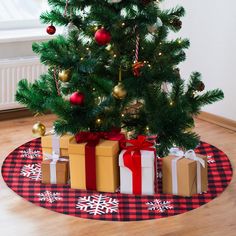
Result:
{"label": "largest yellow gift box with its vertical dark red ribbon, without top bow", "polygon": [[70,141],[71,188],[115,192],[119,187],[119,142],[102,139],[90,141]]}

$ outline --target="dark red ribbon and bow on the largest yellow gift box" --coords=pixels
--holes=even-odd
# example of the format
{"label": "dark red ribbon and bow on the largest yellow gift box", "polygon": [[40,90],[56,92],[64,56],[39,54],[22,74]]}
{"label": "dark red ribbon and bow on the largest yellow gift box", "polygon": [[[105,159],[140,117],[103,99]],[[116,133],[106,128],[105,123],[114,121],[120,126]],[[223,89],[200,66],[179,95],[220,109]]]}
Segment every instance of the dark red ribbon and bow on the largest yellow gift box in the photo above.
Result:
{"label": "dark red ribbon and bow on the largest yellow gift box", "polygon": [[87,143],[85,145],[85,173],[86,189],[97,190],[96,186],[96,146],[100,139],[119,141],[120,144],[125,139],[124,134],[119,129],[111,132],[79,132],[75,135],[77,143]]}

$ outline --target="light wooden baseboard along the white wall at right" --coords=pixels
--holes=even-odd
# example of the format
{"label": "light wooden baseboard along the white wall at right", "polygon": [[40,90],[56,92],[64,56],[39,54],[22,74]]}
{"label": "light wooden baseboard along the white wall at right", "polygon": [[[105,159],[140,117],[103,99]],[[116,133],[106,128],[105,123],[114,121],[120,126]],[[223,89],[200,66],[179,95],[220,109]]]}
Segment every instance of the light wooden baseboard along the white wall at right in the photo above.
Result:
{"label": "light wooden baseboard along the white wall at right", "polygon": [[236,121],[224,118],[222,116],[214,115],[209,112],[202,111],[198,116],[198,119],[208,121],[210,123],[222,126],[224,128],[236,131]]}

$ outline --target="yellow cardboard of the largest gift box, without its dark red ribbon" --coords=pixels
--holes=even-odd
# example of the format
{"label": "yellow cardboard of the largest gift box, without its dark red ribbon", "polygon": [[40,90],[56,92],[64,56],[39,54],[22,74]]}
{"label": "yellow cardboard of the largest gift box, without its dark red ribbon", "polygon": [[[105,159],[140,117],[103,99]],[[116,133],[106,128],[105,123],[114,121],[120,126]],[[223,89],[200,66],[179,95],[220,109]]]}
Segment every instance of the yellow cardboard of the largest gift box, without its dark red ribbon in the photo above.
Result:
{"label": "yellow cardboard of the largest gift box, without its dark red ribbon", "polygon": [[[71,188],[86,189],[85,145],[72,139],[69,144]],[[115,192],[119,187],[119,142],[100,140],[96,146],[96,188],[100,192]]]}

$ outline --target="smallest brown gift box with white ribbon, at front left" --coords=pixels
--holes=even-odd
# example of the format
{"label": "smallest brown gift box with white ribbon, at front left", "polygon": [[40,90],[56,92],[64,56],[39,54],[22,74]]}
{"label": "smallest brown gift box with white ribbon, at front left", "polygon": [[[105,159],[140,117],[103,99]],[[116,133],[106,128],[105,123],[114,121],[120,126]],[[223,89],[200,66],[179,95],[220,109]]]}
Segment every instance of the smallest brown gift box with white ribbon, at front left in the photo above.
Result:
{"label": "smallest brown gift box with white ribbon, at front left", "polygon": [[[58,157],[58,156],[57,156]],[[69,162],[64,158],[43,160],[41,164],[43,184],[67,184]]]}

